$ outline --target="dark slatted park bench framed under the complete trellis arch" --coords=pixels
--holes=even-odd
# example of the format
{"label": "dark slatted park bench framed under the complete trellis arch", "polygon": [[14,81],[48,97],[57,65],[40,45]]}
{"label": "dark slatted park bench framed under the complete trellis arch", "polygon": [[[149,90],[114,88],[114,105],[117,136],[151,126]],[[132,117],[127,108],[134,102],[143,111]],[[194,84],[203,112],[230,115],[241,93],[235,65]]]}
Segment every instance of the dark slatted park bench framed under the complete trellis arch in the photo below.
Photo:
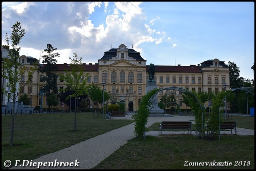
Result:
{"label": "dark slatted park bench framed under the complete trellis arch", "polygon": [[170,130],[170,129],[181,129],[181,130],[190,130],[191,134],[191,122],[190,121],[162,121],[159,124],[159,134],[163,134],[163,130]]}

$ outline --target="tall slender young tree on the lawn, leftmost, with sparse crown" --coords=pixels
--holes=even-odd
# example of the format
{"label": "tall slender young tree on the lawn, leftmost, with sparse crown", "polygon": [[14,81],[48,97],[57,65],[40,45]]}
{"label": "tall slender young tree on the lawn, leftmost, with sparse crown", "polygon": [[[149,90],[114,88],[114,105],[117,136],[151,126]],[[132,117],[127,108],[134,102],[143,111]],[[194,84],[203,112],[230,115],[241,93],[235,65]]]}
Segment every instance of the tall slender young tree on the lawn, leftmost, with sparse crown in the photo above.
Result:
{"label": "tall slender young tree on the lawn, leftmost, with sparse crown", "polygon": [[[8,37],[8,33],[6,33],[6,42],[7,47],[9,47],[9,39],[12,42],[12,49],[8,51],[8,57],[2,58],[2,77],[8,80],[6,83],[6,87],[10,90],[10,94],[6,90],[6,88],[2,88],[2,93],[8,95],[9,98],[12,99],[12,128],[11,128],[11,137],[10,137],[10,146],[13,146],[13,136],[14,136],[14,112],[15,112],[15,102],[16,98],[20,94],[20,89],[18,88],[19,80],[21,76],[24,75],[25,71],[28,73],[27,78],[31,78],[34,71],[36,71],[36,66],[38,63],[33,64],[34,67],[26,68],[20,63],[20,49],[18,47],[21,39],[25,35],[25,30],[21,27],[20,22],[16,22],[12,27],[12,33],[10,37]],[[27,79],[26,83],[28,83],[30,79]],[[25,85],[26,85],[25,83]]]}

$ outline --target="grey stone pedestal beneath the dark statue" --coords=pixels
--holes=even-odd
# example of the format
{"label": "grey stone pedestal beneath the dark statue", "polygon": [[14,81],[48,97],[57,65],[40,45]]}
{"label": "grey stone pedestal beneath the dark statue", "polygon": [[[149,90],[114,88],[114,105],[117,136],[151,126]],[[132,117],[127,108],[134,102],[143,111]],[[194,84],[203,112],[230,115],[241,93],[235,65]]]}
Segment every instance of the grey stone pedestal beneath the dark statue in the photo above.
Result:
{"label": "grey stone pedestal beneath the dark statue", "polygon": [[[155,89],[157,88],[156,82],[148,82],[146,85],[146,92],[149,92],[154,88]],[[152,109],[149,112],[150,115],[154,114],[155,116],[157,114],[161,114],[161,115],[164,114],[164,110],[158,107],[157,94],[155,94],[154,98],[151,98],[151,102],[152,102]]]}

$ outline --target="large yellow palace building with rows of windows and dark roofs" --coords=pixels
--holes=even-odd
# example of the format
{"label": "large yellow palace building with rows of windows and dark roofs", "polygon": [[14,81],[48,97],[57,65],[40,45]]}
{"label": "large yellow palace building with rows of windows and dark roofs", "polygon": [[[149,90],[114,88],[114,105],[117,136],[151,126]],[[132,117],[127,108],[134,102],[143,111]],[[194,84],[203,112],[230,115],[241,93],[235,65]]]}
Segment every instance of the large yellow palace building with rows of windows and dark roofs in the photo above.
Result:
{"label": "large yellow palace building with rows of windows and dark roofs", "polygon": [[[36,62],[37,59],[22,55],[20,60],[22,65],[32,67],[32,63]],[[19,96],[24,95],[24,93],[28,94],[28,97],[32,98],[32,107],[41,106],[41,103],[43,108],[48,107],[46,106],[46,97],[41,96],[40,92],[42,86],[46,85],[45,82],[41,81],[41,78],[45,76],[45,73],[41,72],[44,65],[38,66],[38,71],[33,74],[33,78],[30,78],[30,83],[25,84],[26,75],[21,77],[19,83],[21,90]],[[124,102],[126,111],[136,111],[138,109],[142,96],[146,94],[146,85],[149,78],[149,64],[146,64],[146,60],[140,56],[139,52],[134,49],[128,49],[126,45],[121,44],[118,48],[111,48],[105,51],[103,57],[98,59],[98,63],[83,63],[82,65],[84,72],[90,75],[87,80],[88,84],[93,82],[102,88],[101,83],[105,82],[105,90],[110,92],[116,101]],[[59,74],[64,73],[65,69],[68,69],[70,65],[67,63],[57,64],[57,67],[58,69],[55,73]],[[219,59],[203,61],[201,65],[155,65],[155,68],[154,80],[160,89],[174,86],[190,91],[206,91],[214,92],[215,94],[225,90],[224,85],[227,85],[227,90],[229,89],[229,67]],[[57,81],[57,86],[59,90],[66,88],[65,83],[60,79]],[[173,93],[176,98],[179,96],[180,109],[186,108],[186,105],[182,104],[181,92],[175,92],[175,90],[160,91],[158,93],[158,102],[165,93]],[[94,105],[92,101],[90,102],[91,105]],[[208,107],[207,103],[205,106]],[[59,105],[54,106],[54,108],[62,110],[62,102],[59,102]],[[68,108],[64,104],[64,109]]]}

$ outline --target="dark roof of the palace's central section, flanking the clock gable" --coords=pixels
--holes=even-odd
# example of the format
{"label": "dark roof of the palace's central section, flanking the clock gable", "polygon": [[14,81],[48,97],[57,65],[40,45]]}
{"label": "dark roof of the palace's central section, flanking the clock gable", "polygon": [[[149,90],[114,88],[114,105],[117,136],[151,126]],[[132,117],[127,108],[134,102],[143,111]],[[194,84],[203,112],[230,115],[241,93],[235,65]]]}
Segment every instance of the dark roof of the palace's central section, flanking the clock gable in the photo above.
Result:
{"label": "dark roof of the palace's central section, flanking the clock gable", "polygon": [[[116,57],[117,48],[112,48],[109,51],[104,52],[104,55],[99,60],[108,60],[112,57]],[[140,56],[140,52],[134,51],[134,49],[128,49],[128,56],[136,59],[136,61],[146,61]]]}

